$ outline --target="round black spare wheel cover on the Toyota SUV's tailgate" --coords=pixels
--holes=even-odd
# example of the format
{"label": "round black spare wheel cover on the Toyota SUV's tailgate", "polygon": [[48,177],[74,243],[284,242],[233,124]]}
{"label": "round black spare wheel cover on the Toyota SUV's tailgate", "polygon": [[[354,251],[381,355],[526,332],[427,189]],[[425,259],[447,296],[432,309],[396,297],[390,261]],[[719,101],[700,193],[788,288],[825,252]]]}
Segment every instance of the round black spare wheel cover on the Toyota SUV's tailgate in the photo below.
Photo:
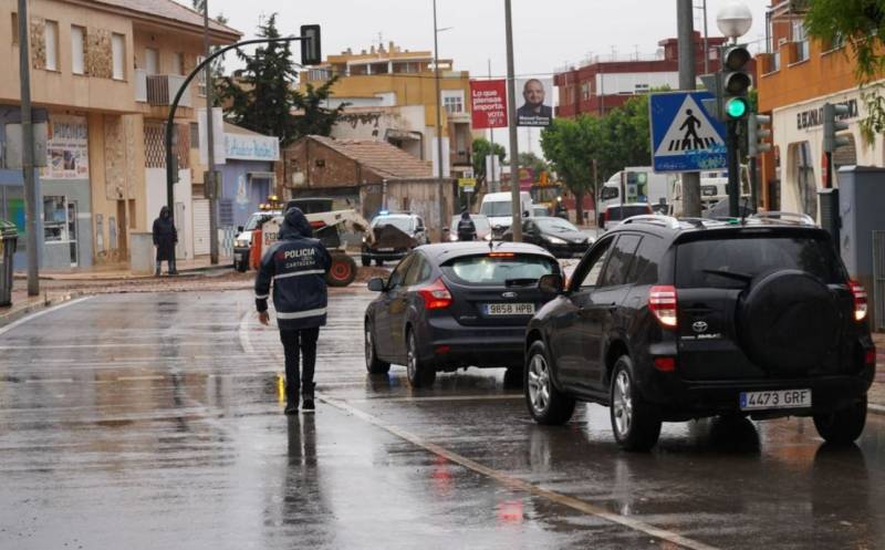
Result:
{"label": "round black spare wheel cover on the Toyota SUV's tailgate", "polygon": [[830,289],[804,271],[756,277],[739,304],[740,341],[768,371],[796,373],[821,363],[839,341],[840,318]]}

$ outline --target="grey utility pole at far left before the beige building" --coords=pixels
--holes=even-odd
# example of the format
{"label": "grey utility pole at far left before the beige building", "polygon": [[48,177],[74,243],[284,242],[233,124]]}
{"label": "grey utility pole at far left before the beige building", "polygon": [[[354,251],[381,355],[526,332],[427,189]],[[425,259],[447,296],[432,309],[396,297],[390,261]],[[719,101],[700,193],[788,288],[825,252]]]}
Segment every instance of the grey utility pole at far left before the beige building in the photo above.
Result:
{"label": "grey utility pole at far left before the beige building", "polygon": [[31,120],[31,55],[28,0],[19,0],[19,71],[21,73],[21,172],[24,177],[25,232],[28,236],[28,295],[40,294],[40,257],[37,212],[40,194],[34,175],[34,127]]}

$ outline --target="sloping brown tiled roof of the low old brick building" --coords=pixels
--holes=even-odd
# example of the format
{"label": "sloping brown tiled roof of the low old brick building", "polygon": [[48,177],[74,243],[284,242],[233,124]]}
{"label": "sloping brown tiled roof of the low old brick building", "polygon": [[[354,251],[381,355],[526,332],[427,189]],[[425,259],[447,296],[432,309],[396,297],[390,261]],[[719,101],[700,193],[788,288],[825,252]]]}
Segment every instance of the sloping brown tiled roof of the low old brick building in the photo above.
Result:
{"label": "sloping brown tiled roof of the low old brick building", "polygon": [[382,177],[433,177],[434,170],[430,162],[416,158],[387,142],[310,137],[371,168]]}

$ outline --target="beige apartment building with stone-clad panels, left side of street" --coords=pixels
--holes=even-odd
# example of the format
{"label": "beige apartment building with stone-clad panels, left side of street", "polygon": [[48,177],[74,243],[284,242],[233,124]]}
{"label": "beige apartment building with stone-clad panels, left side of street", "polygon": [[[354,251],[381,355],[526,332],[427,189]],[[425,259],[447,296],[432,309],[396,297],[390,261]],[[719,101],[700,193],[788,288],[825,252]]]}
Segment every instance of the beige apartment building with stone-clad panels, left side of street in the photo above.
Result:
{"label": "beige apartment building with stone-clad panels, left side of street", "polygon": [[[133,231],[148,231],[166,203],[168,105],[202,53],[202,17],[174,0],[31,0],[20,37],[15,0],[0,0],[0,142],[19,117],[19,44],[29,40],[31,96],[48,120],[49,166],[39,170],[44,268],[126,261]],[[212,22],[210,41],[240,33]],[[195,81],[176,114],[176,224],[192,257],[191,123],[205,89]],[[42,113],[45,113],[43,115]],[[0,218],[24,232],[20,170],[0,164]],[[17,267],[24,261],[23,235]]]}

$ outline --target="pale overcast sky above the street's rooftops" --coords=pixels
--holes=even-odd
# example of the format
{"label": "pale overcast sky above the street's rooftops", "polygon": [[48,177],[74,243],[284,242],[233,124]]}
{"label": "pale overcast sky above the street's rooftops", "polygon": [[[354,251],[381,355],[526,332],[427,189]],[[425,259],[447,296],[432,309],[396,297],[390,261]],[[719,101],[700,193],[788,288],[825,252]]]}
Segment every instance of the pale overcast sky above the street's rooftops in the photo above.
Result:
{"label": "pale overcast sky above the street's rooftops", "polygon": [[[189,4],[189,0],[179,0]],[[700,8],[702,0],[694,0]],[[707,0],[710,35],[719,35],[716,12],[727,0]],[[746,0],[753,12],[747,41],[763,45],[767,0]],[[676,0],[513,0],[513,42],[518,74],[546,74],[589,53],[654,53],[657,42],[676,35]],[[506,69],[503,0],[437,0],[439,54],[456,69],[485,76]],[[259,18],[278,12],[281,32],[299,25],[323,25],[323,53],[339,53],[393,40],[409,50],[433,50],[433,0],[209,0],[212,15],[222,12],[247,38]],[[695,29],[702,31],[701,10]]]}

